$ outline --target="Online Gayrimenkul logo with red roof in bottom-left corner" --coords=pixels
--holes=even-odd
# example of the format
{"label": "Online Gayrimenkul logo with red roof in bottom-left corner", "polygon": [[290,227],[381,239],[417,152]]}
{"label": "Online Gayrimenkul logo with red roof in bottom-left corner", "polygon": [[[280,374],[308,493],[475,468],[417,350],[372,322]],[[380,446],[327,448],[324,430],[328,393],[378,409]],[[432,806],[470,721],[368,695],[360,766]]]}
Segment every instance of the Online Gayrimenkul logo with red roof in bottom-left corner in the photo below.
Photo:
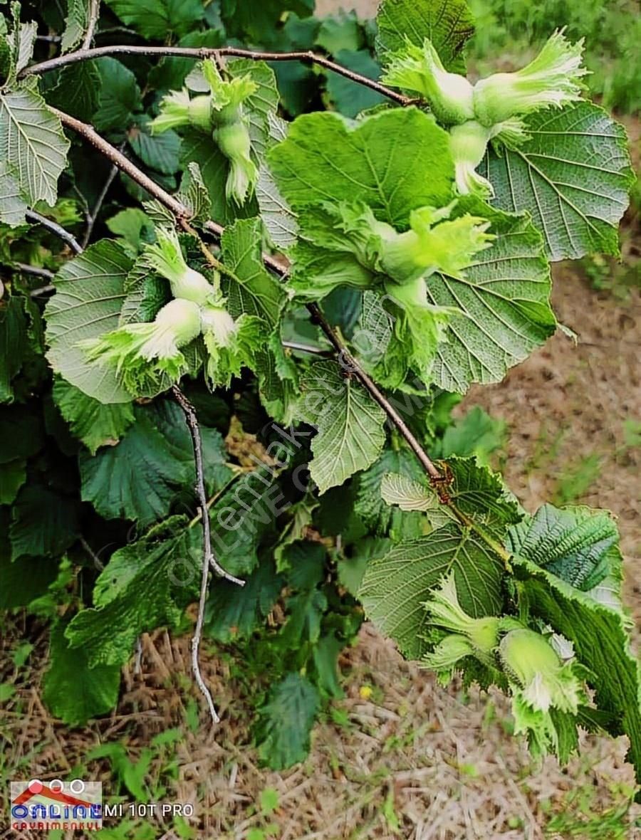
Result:
{"label": "Online Gayrimenkul logo with red roof in bottom-left corner", "polygon": [[14,831],[102,828],[102,784],[74,779],[11,783],[11,827]]}

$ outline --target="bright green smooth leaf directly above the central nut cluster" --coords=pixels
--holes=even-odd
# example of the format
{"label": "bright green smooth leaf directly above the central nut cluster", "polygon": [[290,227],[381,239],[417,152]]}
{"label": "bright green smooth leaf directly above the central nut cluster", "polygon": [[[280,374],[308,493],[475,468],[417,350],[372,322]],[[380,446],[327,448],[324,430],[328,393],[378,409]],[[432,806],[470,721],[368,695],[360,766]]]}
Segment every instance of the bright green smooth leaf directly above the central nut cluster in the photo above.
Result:
{"label": "bright green smooth leaf directly above the central nut cluster", "polygon": [[382,221],[402,227],[415,207],[440,207],[451,197],[448,135],[418,108],[356,123],[337,113],[305,114],[267,160],[292,207],[362,201]]}

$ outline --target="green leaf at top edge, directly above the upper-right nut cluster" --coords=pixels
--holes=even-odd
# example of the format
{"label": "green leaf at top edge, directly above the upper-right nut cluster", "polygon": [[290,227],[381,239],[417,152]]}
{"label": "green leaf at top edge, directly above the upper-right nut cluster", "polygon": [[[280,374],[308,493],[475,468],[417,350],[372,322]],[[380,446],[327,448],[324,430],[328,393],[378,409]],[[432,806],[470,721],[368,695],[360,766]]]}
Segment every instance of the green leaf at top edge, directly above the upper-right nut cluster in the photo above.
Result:
{"label": "green leaf at top edge, directly above the upper-right nut cluster", "polygon": [[400,50],[406,37],[420,47],[428,38],[447,70],[465,73],[465,41],[474,34],[474,18],[466,0],[383,0],[376,15],[376,49],[383,62]]}

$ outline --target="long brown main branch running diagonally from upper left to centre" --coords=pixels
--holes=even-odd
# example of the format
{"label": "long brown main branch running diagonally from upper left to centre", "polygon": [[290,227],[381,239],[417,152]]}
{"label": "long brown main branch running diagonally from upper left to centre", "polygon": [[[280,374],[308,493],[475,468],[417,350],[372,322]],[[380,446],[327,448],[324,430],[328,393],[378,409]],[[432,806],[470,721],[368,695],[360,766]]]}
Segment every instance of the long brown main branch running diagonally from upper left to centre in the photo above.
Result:
{"label": "long brown main branch running diagonally from upper left to centre", "polygon": [[[119,152],[112,144],[102,138],[100,134],[97,134],[96,130],[93,129],[91,125],[82,123],[79,119],[70,117],[69,114],[58,111],[56,108],[51,108],[51,110],[57,113],[60,118],[60,122],[63,125],[74,129],[78,134],[87,138],[89,142],[97,148],[97,150],[100,150],[102,151],[102,154],[107,155],[108,159],[111,160],[113,164],[117,165],[119,169],[126,172],[130,178],[137,181],[140,186],[143,186],[151,196],[164,204],[167,209],[171,210],[171,213],[174,213],[177,222],[181,223],[181,226],[188,223],[188,208],[179,202],[175,197],[171,196],[169,192],[166,192],[166,190],[156,184],[155,181],[152,181],[149,176],[144,174],[144,172],[141,172],[138,167],[129,160],[129,158],[126,158],[122,152]],[[213,221],[206,222],[203,225],[203,228],[205,228],[205,230],[207,230],[210,234],[213,234],[213,236],[217,239],[219,239],[224,233],[223,226]],[[275,257],[265,254],[263,255],[263,262],[265,263],[265,266],[277,277],[281,280],[286,280],[287,269],[283,267],[280,260],[276,260]],[[386,412],[387,417],[389,417],[391,423],[393,423],[399,433],[401,433],[402,437],[407,442],[407,445],[410,449],[412,449],[412,452],[416,455],[430,479],[434,482],[443,481],[444,475],[442,475],[436,465],[433,464],[432,459],[429,458],[428,454],[418,442],[418,439],[412,433],[412,430],[408,428],[407,423],[405,423],[401,415],[391,405],[391,402],[389,402],[378,386],[376,386],[376,383],[372,381],[370,376],[365,373],[365,370],[360,367],[354,356],[349,353],[349,349],[335,332],[327,318],[325,318],[320,307],[318,307],[318,304],[310,303],[307,305],[307,309],[312,317],[318,322],[318,325],[327,336],[330,344],[332,344],[336,352],[339,354],[339,361],[341,364],[346,370],[349,370],[350,373],[360,380],[372,399],[381,406],[384,412]]]}

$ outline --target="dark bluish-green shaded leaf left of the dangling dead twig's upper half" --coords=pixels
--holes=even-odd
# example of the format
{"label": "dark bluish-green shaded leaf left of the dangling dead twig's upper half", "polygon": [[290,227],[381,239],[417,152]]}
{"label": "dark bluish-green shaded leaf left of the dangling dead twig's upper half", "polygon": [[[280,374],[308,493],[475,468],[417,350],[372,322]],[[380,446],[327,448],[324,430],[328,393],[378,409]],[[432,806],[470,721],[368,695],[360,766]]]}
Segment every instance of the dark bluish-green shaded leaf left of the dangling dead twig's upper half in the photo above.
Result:
{"label": "dark bluish-green shaded leaf left of the dangling dead twig's upper half", "polygon": [[94,456],[81,453],[82,500],[90,501],[102,517],[132,519],[144,527],[169,513],[171,501],[193,470],[180,409],[171,410],[178,421],[174,437],[167,438],[157,428],[155,409],[136,407],[135,423],[117,446]]}

